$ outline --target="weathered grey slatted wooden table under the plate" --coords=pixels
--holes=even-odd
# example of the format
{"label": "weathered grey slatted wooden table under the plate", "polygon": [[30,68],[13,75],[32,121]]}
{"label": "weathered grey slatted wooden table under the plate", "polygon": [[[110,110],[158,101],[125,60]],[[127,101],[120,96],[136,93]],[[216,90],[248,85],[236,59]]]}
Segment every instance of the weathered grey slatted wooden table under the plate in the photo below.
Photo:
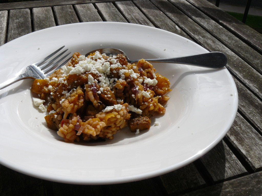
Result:
{"label": "weathered grey slatted wooden table under the plate", "polygon": [[205,0],[42,0],[0,4],[0,45],[43,28],[117,21],[161,28],[228,57],[239,95],[233,126],[195,162],[116,185],[68,185],[0,166],[0,195],[261,195],[262,36]]}

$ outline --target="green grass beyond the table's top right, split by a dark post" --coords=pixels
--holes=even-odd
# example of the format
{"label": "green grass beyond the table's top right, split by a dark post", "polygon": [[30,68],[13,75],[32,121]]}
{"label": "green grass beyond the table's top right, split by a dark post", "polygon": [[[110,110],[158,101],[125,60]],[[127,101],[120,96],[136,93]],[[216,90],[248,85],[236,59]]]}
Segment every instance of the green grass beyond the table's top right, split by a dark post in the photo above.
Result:
{"label": "green grass beyond the table's top right, split by a dark post", "polygon": [[[235,13],[227,11],[228,14],[234,16],[236,19],[242,21],[243,15],[241,13]],[[246,25],[250,26],[254,30],[262,33],[262,16],[247,15]]]}

